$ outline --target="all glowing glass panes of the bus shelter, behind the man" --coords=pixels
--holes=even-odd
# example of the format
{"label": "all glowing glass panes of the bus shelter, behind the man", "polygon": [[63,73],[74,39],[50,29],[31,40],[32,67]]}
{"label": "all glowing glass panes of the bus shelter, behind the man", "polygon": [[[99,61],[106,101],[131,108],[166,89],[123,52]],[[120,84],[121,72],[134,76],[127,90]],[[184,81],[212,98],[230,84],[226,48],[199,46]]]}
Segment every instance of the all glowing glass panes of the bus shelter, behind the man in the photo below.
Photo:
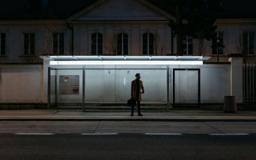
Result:
{"label": "all glowing glass panes of the bus shelter, behind the man", "polygon": [[[98,66],[99,67],[99,66]],[[84,77],[85,104],[120,104],[126,107],[131,97],[131,81],[135,74],[141,74],[145,88],[141,103],[172,103],[172,77],[166,68],[112,67],[86,68]],[[175,102],[196,104],[198,93],[198,74],[195,70],[176,71]],[[183,79],[180,81],[180,79]],[[186,81],[186,79],[189,81]],[[179,82],[179,83],[177,83]],[[168,87],[169,86],[169,87]],[[64,87],[64,89],[63,89]],[[83,106],[83,68],[52,68],[51,70],[51,106],[50,108]],[[190,92],[188,92],[188,90]],[[179,92],[177,92],[179,91]],[[169,92],[169,93],[168,93]],[[168,97],[169,96],[169,97]]]}

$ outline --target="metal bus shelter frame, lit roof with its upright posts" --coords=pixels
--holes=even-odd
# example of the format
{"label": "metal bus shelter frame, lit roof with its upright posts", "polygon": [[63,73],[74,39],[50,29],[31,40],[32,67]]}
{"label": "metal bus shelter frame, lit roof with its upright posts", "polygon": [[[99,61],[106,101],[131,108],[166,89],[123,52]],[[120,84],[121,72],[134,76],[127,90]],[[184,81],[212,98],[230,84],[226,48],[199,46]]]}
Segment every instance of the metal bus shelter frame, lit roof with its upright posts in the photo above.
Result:
{"label": "metal bus shelter frame, lit roof with its upright posts", "polygon": [[[204,60],[209,60],[207,56],[41,56],[49,61],[48,67],[48,109],[51,108],[51,70],[61,70],[61,66],[66,66],[65,70],[83,70],[83,100],[82,107],[85,111],[85,70],[86,65],[161,65],[166,66],[167,76],[167,109],[170,109],[170,65],[203,65]],[[67,68],[68,65],[79,65],[78,68]],[[58,68],[59,67],[59,68]],[[177,68],[173,68],[174,71]],[[179,70],[179,69],[178,69]],[[183,69],[182,69],[183,70]],[[199,70],[200,69],[196,69]],[[200,79],[200,74],[199,74]],[[56,82],[55,82],[56,83]],[[57,87],[57,86],[55,86]],[[200,82],[198,83],[198,104],[200,105]],[[174,90],[173,90],[174,91]],[[174,95],[173,95],[174,97]],[[55,99],[57,101],[57,98]],[[173,101],[174,102],[174,101]],[[58,102],[56,102],[58,105]]]}

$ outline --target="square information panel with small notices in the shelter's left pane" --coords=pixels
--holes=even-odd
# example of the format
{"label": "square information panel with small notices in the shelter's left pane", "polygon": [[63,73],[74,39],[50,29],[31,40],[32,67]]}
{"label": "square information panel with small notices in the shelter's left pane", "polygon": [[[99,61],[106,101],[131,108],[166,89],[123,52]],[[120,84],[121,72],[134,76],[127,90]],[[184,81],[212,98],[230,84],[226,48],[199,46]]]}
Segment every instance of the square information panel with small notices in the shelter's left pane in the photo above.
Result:
{"label": "square information panel with small notices in the shelter's left pane", "polygon": [[60,76],[60,95],[79,95],[79,76]]}

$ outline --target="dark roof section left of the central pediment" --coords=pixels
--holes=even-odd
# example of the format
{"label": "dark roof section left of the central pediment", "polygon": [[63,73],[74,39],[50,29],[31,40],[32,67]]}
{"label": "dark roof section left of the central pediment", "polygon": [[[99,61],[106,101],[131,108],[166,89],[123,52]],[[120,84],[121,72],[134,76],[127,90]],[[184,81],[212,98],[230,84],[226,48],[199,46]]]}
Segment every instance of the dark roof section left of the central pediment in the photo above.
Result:
{"label": "dark roof section left of the central pediment", "polygon": [[8,0],[0,5],[0,20],[65,20],[94,2],[95,0]]}

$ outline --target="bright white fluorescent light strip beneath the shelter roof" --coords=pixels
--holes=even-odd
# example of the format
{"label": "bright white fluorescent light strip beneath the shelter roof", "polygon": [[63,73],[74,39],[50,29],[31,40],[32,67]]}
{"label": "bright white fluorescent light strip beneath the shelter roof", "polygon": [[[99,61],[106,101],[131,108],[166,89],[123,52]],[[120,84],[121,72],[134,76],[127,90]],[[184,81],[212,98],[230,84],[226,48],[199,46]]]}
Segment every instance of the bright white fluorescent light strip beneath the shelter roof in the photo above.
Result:
{"label": "bright white fluorescent light strip beneath the shelter roof", "polygon": [[167,61],[167,60],[107,60],[107,61],[50,61],[50,65],[203,65],[203,61]]}

